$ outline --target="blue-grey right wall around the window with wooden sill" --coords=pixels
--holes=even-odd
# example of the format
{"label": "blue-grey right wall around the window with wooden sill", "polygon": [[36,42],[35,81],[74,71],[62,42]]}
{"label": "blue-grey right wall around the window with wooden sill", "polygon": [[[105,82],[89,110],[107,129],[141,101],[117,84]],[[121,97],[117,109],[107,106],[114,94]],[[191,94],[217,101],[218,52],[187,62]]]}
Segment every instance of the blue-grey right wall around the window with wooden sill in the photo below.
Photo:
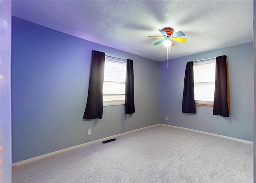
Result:
{"label": "blue-grey right wall around the window with wooden sill", "polygon": [[[182,113],[186,62],[228,56],[231,117],[212,115],[212,107]],[[160,62],[159,122],[253,141],[254,60],[252,42]],[[168,116],[168,120],[165,120]]]}

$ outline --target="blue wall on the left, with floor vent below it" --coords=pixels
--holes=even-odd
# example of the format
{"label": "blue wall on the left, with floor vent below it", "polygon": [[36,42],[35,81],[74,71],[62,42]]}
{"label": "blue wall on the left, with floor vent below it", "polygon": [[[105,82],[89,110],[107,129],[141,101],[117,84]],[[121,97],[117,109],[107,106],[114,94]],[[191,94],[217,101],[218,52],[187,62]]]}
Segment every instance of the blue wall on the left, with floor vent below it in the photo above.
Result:
{"label": "blue wall on the left, with floor vent below it", "polygon": [[[133,115],[116,105],[82,120],[92,50],[134,61]],[[13,163],[158,123],[158,90],[159,62],[12,18]]]}

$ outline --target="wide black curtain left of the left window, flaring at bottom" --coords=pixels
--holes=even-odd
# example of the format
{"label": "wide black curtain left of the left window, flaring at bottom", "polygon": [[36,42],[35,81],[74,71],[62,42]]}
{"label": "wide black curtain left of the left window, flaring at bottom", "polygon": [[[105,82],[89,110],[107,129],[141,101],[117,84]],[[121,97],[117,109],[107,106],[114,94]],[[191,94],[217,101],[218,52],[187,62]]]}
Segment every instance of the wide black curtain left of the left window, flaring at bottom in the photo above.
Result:
{"label": "wide black curtain left of the left window, flaring at bottom", "polygon": [[83,119],[102,118],[105,53],[92,51],[88,98]]}

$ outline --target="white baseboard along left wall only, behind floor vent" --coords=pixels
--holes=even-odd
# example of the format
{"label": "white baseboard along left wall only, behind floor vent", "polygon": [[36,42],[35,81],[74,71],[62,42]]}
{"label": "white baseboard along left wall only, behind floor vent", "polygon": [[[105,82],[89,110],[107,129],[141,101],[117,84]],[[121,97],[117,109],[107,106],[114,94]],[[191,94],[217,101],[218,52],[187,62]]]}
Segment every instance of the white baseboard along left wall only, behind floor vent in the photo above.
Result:
{"label": "white baseboard along left wall only, behind floor vent", "polygon": [[156,125],[151,125],[151,126],[147,126],[147,127],[143,127],[143,128],[139,128],[139,129],[134,129],[132,131],[127,131],[127,132],[124,132],[124,133],[120,133],[120,134],[117,134],[117,135],[113,135],[113,136],[110,136],[110,137],[105,137],[103,139],[98,139],[98,140],[95,140],[95,141],[91,141],[91,142],[87,142],[87,143],[83,143],[83,144],[80,144],[80,145],[76,145],[76,146],[73,146],[73,147],[68,147],[66,149],[61,149],[59,151],[54,151],[52,153],[47,153],[47,154],[44,154],[44,155],[40,155],[40,156],[37,156],[37,157],[32,157],[30,159],[25,159],[23,161],[18,161],[16,163],[12,163],[12,167],[15,167],[15,166],[19,166],[19,165],[24,165],[26,163],[30,163],[30,162],[33,162],[33,161],[36,161],[36,160],[39,160],[39,159],[43,159],[43,158],[46,158],[46,157],[50,157],[50,156],[53,156],[53,155],[56,155],[56,154],[59,154],[59,153],[64,153],[66,151],[70,151],[72,149],[77,149],[77,148],[80,148],[80,147],[85,147],[87,145],[90,145],[90,144],[94,144],[94,143],[98,143],[98,142],[102,142],[102,141],[105,141],[105,140],[109,140],[109,139],[113,139],[115,137],[119,137],[119,136],[122,136],[122,135],[126,135],[128,133],[133,133],[135,131],[140,131],[140,130],[143,130],[143,129],[147,129],[147,128],[151,128],[151,127],[154,127],[154,126],[158,126],[159,124],[156,124]]}

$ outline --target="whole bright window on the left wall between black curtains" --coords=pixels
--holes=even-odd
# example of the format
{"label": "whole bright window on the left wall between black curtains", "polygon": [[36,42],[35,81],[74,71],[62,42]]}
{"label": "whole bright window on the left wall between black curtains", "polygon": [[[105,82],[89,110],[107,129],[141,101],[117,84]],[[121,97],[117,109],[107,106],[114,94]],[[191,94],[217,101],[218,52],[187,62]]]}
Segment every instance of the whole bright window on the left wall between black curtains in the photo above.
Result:
{"label": "whole bright window on the left wall between black curtains", "polygon": [[103,105],[122,105],[125,103],[126,61],[105,57]]}

